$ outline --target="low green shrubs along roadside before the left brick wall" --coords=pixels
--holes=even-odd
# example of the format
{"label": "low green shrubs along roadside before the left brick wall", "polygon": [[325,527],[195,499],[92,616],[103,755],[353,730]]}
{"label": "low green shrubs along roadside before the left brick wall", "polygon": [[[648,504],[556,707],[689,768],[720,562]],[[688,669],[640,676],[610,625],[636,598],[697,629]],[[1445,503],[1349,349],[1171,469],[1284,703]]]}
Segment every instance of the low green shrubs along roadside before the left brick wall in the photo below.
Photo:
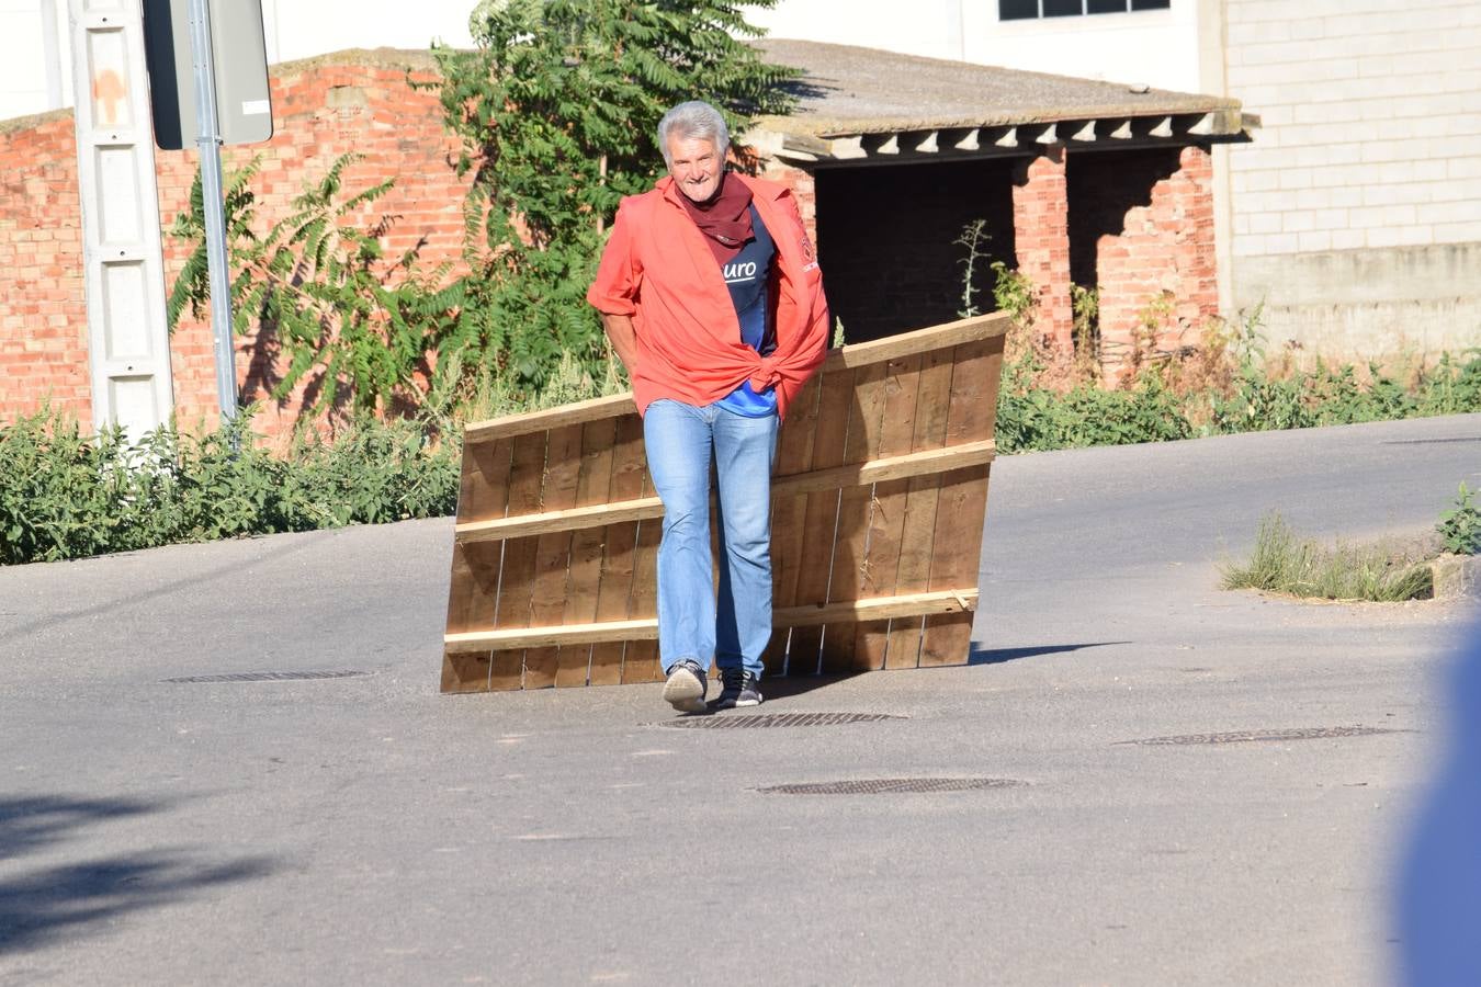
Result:
{"label": "low green shrubs along roadside before the left brick wall", "polygon": [[361,419],[335,442],[271,454],[250,416],[195,438],[129,445],[41,411],[0,426],[0,564],[446,515],[459,450],[409,420]]}

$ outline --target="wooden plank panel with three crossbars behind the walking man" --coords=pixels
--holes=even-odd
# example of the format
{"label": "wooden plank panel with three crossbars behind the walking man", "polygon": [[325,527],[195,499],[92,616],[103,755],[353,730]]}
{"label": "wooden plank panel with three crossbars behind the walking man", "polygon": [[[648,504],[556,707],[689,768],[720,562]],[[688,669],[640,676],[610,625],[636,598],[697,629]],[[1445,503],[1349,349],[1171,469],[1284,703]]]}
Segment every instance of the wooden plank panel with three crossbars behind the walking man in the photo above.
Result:
{"label": "wooden plank panel with three crossbars behind the walking man", "polygon": [[[792,402],[769,675],[967,660],[1006,331],[844,346]],[[469,425],[443,691],[659,681],[662,516],[628,395]]]}

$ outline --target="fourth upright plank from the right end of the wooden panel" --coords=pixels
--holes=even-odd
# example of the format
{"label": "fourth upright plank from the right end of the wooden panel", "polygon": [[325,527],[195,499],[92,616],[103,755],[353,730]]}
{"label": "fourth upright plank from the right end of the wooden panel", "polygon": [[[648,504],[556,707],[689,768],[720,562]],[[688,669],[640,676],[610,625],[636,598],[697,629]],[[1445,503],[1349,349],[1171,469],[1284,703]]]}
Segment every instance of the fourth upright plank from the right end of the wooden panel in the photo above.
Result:
{"label": "fourth upright plank from the right end of the wooden panel", "polygon": [[[880,453],[884,414],[889,398],[900,391],[900,380],[889,373],[892,364],[869,364],[855,371],[853,407],[849,411],[849,435],[844,439],[844,463],[868,463]],[[911,394],[914,405],[915,395]],[[859,570],[869,537],[871,487],[841,487],[838,524],[834,536],[832,574],[828,580],[828,602],[859,599]],[[841,621],[823,624],[822,670],[849,672],[855,669],[853,611]]]}

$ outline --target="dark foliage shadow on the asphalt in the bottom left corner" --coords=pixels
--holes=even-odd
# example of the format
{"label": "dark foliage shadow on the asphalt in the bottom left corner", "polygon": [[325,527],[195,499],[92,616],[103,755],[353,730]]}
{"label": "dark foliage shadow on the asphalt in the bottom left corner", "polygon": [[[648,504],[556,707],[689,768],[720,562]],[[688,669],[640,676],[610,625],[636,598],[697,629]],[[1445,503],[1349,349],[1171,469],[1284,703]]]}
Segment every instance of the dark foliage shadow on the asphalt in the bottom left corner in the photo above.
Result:
{"label": "dark foliage shadow on the asphalt in the bottom left corner", "polygon": [[[0,861],[13,870],[22,855],[78,838],[87,827],[172,805],[126,798],[0,798]],[[0,956],[62,937],[76,941],[132,912],[262,877],[273,869],[267,857],[221,861],[209,860],[206,851],[166,846],[6,876],[0,879]]]}

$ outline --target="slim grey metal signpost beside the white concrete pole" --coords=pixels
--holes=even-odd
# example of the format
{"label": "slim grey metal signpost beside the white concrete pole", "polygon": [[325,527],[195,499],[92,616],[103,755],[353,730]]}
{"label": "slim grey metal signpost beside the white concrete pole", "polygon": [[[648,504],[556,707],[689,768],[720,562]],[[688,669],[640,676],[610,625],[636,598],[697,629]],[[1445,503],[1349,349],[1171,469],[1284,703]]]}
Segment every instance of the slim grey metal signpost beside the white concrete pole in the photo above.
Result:
{"label": "slim grey metal signpost beside the white concrete pole", "polygon": [[[190,0],[191,64],[195,68],[195,145],[210,266],[210,329],[216,343],[221,422],[237,417],[237,355],[231,330],[231,271],[227,266],[227,209],[222,201],[221,126],[216,121],[216,67],[210,50],[210,0]],[[184,121],[182,121],[184,123]]]}

